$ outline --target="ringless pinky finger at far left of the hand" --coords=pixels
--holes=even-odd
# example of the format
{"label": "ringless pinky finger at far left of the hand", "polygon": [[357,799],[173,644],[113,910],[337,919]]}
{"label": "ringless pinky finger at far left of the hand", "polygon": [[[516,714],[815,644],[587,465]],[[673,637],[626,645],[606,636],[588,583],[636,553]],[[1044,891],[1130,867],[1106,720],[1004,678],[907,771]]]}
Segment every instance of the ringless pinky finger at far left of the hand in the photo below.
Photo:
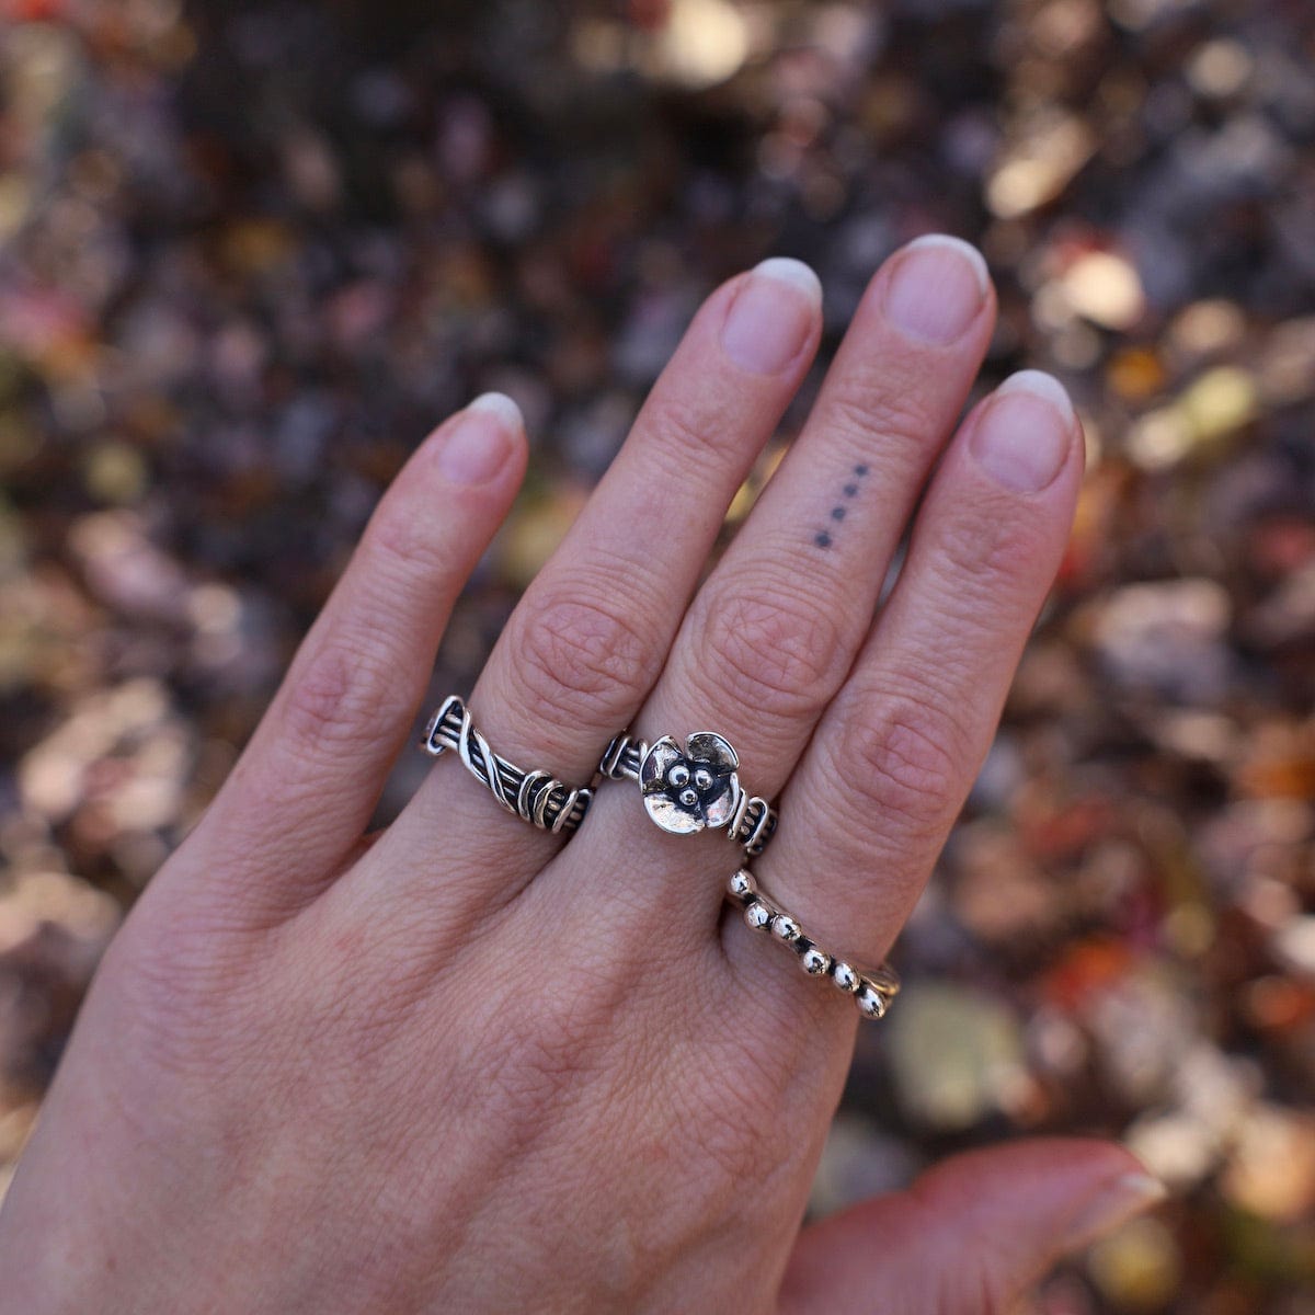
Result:
{"label": "ringless pinky finger at far left of the hand", "polygon": [[192,840],[247,917],[296,911],[359,842],[525,462],[519,410],[488,393],[439,426],[384,494]]}

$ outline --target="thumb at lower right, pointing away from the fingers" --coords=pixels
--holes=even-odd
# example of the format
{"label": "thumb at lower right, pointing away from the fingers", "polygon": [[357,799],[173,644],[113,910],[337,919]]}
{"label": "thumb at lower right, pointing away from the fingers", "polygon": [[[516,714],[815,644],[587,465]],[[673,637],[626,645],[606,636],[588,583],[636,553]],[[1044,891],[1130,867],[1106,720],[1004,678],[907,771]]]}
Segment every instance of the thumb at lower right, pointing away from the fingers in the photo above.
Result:
{"label": "thumb at lower right, pointing away from the fingers", "polygon": [[1061,1256],[1165,1195],[1120,1147],[1038,1139],[955,1156],[800,1236],[785,1315],[997,1315]]}

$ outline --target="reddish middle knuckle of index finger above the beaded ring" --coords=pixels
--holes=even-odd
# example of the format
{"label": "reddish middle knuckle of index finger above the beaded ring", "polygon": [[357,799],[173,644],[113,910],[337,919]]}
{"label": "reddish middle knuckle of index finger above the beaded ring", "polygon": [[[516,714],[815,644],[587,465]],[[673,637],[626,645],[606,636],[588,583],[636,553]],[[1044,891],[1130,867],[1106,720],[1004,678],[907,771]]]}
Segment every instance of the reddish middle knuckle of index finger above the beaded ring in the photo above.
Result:
{"label": "reddish middle knuckle of index finger above the beaded ring", "polygon": [[877,715],[847,719],[836,780],[860,814],[918,838],[939,835],[967,776],[963,732],[930,690],[885,694]]}

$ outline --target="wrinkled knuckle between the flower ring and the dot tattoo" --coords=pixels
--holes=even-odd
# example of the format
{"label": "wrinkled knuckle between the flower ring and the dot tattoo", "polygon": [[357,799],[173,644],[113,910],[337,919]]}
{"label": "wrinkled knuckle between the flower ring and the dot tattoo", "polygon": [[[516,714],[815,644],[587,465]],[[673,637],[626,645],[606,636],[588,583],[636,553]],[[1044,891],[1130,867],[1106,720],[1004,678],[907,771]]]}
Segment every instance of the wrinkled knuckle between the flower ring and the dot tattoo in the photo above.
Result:
{"label": "wrinkled knuckle between the flower ring and the dot tattoo", "polygon": [[772,717],[815,717],[843,676],[836,621],[788,592],[727,581],[701,601],[697,629],[718,692]]}

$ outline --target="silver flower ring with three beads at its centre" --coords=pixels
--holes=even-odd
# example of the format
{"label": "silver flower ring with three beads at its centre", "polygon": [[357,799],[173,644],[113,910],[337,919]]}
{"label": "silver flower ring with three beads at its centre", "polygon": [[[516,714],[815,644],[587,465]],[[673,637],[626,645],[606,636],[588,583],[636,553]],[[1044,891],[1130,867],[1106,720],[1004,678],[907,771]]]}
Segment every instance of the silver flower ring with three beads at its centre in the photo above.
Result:
{"label": "silver flower ring with three beads at its centre", "polygon": [[714,731],[694,731],[684,748],[671,735],[650,746],[622,731],[604,751],[598,773],[638,781],[648,817],[676,835],[725,830],[753,856],[776,831],[776,810],[740,786],[739,756]]}

